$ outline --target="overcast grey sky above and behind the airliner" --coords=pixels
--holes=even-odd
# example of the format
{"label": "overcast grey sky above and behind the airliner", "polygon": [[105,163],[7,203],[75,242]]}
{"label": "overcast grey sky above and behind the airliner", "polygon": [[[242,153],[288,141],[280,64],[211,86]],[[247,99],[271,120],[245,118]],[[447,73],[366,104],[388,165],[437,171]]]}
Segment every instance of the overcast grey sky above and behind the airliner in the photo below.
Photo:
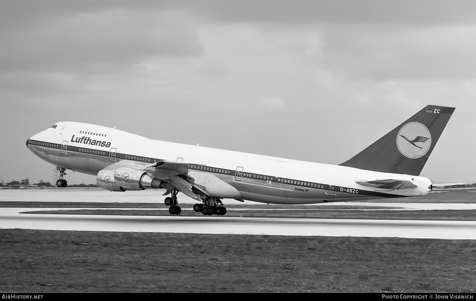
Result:
{"label": "overcast grey sky above and behind the airliner", "polygon": [[[0,181],[62,120],[339,164],[427,104],[423,169],[476,182],[476,1],[0,1]],[[95,177],[69,172],[69,183]]]}

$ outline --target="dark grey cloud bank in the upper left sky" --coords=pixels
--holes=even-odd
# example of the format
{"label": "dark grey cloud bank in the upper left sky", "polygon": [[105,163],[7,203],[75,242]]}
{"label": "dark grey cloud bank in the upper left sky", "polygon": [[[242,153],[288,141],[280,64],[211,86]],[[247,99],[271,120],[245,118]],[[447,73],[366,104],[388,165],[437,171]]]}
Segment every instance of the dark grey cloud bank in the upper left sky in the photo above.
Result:
{"label": "dark grey cloud bank in the upper left sky", "polygon": [[55,15],[41,27],[2,32],[0,67],[127,65],[149,56],[198,55],[194,22],[178,11],[107,9]]}

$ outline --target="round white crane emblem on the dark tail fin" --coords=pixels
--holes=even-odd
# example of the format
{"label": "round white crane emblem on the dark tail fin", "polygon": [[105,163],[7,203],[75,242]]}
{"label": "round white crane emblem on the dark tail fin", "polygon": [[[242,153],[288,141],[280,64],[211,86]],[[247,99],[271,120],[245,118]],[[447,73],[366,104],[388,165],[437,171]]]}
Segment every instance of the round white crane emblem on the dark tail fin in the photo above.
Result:
{"label": "round white crane emblem on the dark tail fin", "polygon": [[398,132],[398,150],[407,158],[423,157],[430,150],[430,146],[430,131],[420,122],[409,122]]}

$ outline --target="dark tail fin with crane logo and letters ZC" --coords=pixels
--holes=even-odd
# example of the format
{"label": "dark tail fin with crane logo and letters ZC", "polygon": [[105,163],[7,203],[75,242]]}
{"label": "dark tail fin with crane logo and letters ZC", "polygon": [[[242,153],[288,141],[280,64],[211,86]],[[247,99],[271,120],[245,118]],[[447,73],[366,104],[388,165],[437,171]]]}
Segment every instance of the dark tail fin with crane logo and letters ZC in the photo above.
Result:
{"label": "dark tail fin with crane logo and letters ZC", "polygon": [[339,165],[417,176],[455,108],[427,105],[365,150]]}

